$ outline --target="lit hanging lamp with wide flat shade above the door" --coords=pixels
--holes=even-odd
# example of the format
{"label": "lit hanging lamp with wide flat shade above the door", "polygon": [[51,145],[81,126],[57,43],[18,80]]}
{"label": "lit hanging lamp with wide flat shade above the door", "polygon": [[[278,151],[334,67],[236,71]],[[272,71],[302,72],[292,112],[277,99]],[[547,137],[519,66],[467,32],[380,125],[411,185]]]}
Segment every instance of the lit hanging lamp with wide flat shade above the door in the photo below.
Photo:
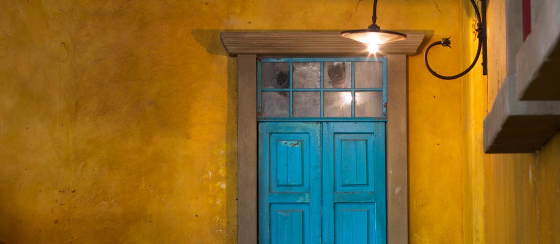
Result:
{"label": "lit hanging lamp with wide flat shade above the door", "polygon": [[376,12],[377,0],[374,0],[374,13],[371,16],[373,24],[368,26],[367,29],[342,31],[340,32],[340,36],[368,44],[367,50],[370,51],[370,53],[376,53],[379,50],[379,45],[407,39],[407,35],[403,33],[381,30],[381,28],[375,24],[377,21]]}

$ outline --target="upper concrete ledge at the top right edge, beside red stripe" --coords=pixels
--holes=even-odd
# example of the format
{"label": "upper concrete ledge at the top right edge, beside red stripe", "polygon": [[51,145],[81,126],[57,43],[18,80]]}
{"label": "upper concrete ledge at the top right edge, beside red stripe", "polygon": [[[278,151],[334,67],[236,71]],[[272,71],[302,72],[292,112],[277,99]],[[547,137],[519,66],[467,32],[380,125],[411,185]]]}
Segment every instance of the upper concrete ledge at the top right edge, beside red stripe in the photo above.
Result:
{"label": "upper concrete ledge at the top right edge, beside red stripe", "polygon": [[560,1],[544,0],[516,57],[520,100],[560,100]]}

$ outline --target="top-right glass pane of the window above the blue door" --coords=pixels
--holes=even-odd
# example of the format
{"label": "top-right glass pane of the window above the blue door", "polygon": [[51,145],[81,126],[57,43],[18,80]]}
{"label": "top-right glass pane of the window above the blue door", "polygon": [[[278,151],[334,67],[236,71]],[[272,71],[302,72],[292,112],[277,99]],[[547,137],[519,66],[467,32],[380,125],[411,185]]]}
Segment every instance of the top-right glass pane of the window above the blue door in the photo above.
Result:
{"label": "top-right glass pane of the window above the blue door", "polygon": [[356,88],[382,88],[383,66],[381,62],[354,63],[354,86]]}

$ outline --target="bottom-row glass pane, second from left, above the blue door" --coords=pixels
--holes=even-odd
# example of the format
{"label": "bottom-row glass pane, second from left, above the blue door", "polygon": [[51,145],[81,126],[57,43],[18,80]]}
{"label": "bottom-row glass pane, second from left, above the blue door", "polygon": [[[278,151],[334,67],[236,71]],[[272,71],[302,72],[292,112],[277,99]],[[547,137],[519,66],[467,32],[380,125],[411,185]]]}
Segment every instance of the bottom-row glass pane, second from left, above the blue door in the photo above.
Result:
{"label": "bottom-row glass pane, second from left, above the blue door", "polygon": [[320,92],[293,92],[294,117],[320,117],[321,93]]}

